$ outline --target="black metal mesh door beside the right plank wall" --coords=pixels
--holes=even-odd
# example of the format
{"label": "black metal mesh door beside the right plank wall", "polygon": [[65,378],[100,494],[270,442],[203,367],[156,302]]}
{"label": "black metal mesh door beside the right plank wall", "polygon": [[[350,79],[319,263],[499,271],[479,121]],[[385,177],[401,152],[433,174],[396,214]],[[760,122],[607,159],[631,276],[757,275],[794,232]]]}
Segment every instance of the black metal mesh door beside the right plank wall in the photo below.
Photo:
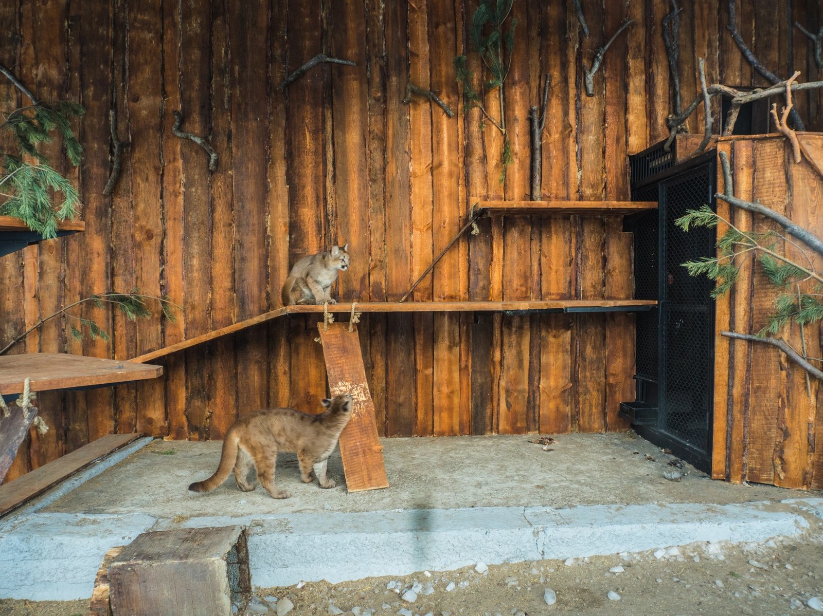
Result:
{"label": "black metal mesh door beside the right plank wall", "polygon": [[[660,326],[658,431],[708,461],[714,382],[714,301],[711,280],[689,276],[682,264],[714,253],[714,229],[682,231],[675,220],[712,204],[714,163],[659,185]],[[679,448],[679,447],[678,447]]]}

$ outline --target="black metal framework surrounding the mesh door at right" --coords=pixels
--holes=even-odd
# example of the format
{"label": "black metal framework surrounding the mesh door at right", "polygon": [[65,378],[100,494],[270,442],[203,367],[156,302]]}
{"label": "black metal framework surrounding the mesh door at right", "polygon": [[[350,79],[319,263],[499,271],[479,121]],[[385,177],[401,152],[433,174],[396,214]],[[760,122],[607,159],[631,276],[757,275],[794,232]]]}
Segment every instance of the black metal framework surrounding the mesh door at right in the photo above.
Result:
{"label": "black metal framework surrounding the mesh door at right", "polygon": [[[656,321],[656,327],[653,321],[649,321],[645,323],[645,329],[647,334],[655,330],[657,332],[657,357],[653,357],[653,346],[649,347],[649,343],[654,344],[653,340],[644,341],[639,337],[636,346],[638,353],[638,374],[635,374],[636,401],[622,403],[620,413],[630,419],[635,431],[643,438],[655,443],[658,447],[670,449],[672,453],[689,461],[701,470],[709,470],[711,465],[711,439],[714,419],[714,300],[709,297],[711,285],[708,281],[705,281],[705,295],[703,295],[702,290],[699,289],[700,301],[694,303],[694,305],[677,303],[676,301],[672,301],[673,298],[670,299],[667,296],[670,291],[670,289],[667,289],[667,285],[672,284],[672,280],[670,280],[672,264],[667,262],[669,254],[667,251],[675,248],[672,248],[670,245],[670,238],[667,235],[669,233],[667,227],[671,226],[671,221],[667,220],[666,189],[667,187],[672,187],[672,185],[677,186],[678,181],[687,182],[690,175],[702,175],[708,180],[705,186],[700,188],[704,190],[704,202],[714,207],[716,152],[709,151],[704,155],[686,161],[684,164],[678,164],[664,169],[659,173],[644,177],[642,172],[645,170],[645,167],[648,166],[645,159],[649,158],[650,152],[662,151],[662,145],[661,143],[649,148],[647,151],[641,152],[639,155],[632,157],[633,160],[631,161],[633,170],[637,164],[641,166],[641,173],[633,173],[633,178],[639,178],[639,182],[632,184],[632,198],[639,201],[648,200],[649,192],[653,192],[654,187],[657,187],[658,193],[658,216],[656,221],[658,226],[658,246],[656,247],[658,262],[656,264],[657,272],[654,272],[657,275],[657,297],[643,297],[641,299],[658,299],[659,304],[658,308],[655,308],[654,313],[638,315],[638,319],[656,317],[656,319],[654,319]],[[641,159],[639,163],[638,157]],[[695,206],[698,205],[699,204],[695,203]],[[630,217],[627,216],[625,219],[625,229],[635,231],[635,234],[638,234],[638,231],[642,230],[642,227],[639,227],[639,225],[646,225],[645,229],[648,235],[648,225],[650,224],[653,223],[649,220],[648,215],[646,218],[643,218],[643,214],[639,214]],[[706,231],[706,229],[700,229],[700,232],[704,231]],[[700,250],[706,252],[707,256],[714,253],[714,230],[708,233],[708,235],[695,235],[694,237],[695,241],[705,242],[705,245],[700,245]],[[689,248],[694,248],[691,244],[688,246]],[[635,236],[635,255],[638,255],[639,252],[642,251],[641,248],[636,245]],[[653,251],[645,251],[647,257],[649,252]],[[686,260],[686,257],[683,257],[683,259]],[[639,268],[643,266],[644,264],[638,262],[638,259],[635,258],[635,285],[638,282],[638,276],[642,275],[642,270]],[[649,264],[646,263],[645,266],[648,275]],[[676,275],[679,274],[680,272],[676,272]],[[678,280],[682,282],[683,279],[680,277]],[[702,282],[698,280],[695,281],[702,284]],[[649,282],[650,281],[645,282],[644,285],[649,286]],[[639,289],[635,289],[635,297],[640,297],[637,293],[638,290]],[[647,289],[647,294],[648,292],[649,289]],[[678,294],[677,299],[682,302],[687,295],[689,295],[689,292],[684,291],[682,294]],[[672,347],[672,340],[670,340],[670,338],[672,338],[673,330],[672,326],[667,323],[667,320],[670,319],[672,315],[675,315],[679,317],[678,322],[682,322],[684,318],[683,315],[690,314],[690,310],[693,310],[693,314],[695,315],[691,324],[695,325],[695,322],[702,320],[706,330],[699,331],[700,327],[698,327],[690,331],[690,335],[696,336],[701,345],[700,352],[697,353],[699,359],[690,358],[688,355],[682,353],[680,355],[675,354],[670,356],[670,353],[678,344],[681,345],[681,351],[683,349],[682,342],[677,342],[677,336],[672,339],[676,340],[674,343],[675,346]],[[700,313],[704,311],[707,311],[707,318],[700,317]],[[687,325],[689,321],[690,319],[686,318]],[[638,322],[638,324],[639,326],[642,325],[640,322]],[[652,329],[649,330],[649,327],[652,327]],[[641,336],[640,330],[641,327],[638,327],[638,336]],[[644,342],[646,344],[644,344]],[[702,346],[703,344],[705,346]],[[645,353],[646,356],[643,356],[643,353]],[[645,365],[649,364],[649,359],[652,362],[652,364],[650,364],[651,366],[656,364],[656,374],[646,374],[646,372],[652,371],[650,366]],[[699,366],[694,364],[695,360],[699,362]],[[641,364],[643,364],[642,371]],[[677,364],[680,364],[680,366],[677,366]],[[681,370],[681,368],[683,369]],[[700,371],[699,375],[693,375],[695,379],[700,378],[700,383],[703,382],[702,379],[705,377],[704,399],[701,401],[700,396],[695,397],[695,392],[693,392],[692,396],[677,396],[676,398],[672,398],[671,401],[667,400],[667,390],[670,388],[670,383],[667,382],[667,372],[672,372],[676,376],[681,373],[686,373],[686,377],[688,377],[691,376],[689,374],[690,370],[695,372]],[[705,372],[703,372],[703,370]],[[656,377],[656,379],[654,377]],[[674,382],[671,383],[671,386],[677,388]],[[682,387],[682,382],[680,386]],[[681,389],[680,391],[683,390]],[[700,413],[690,414],[688,410],[689,406],[695,410],[699,410]],[[684,409],[686,409],[685,412]],[[706,424],[704,426],[700,425],[699,422],[697,424],[694,423],[695,417],[703,417],[703,409],[707,414],[705,417]],[[678,413],[680,415],[678,415]],[[683,422],[679,431],[678,429],[672,429],[672,424],[677,424],[675,419]],[[702,432],[703,428],[705,428],[704,435]],[[691,442],[689,438],[692,438]]]}

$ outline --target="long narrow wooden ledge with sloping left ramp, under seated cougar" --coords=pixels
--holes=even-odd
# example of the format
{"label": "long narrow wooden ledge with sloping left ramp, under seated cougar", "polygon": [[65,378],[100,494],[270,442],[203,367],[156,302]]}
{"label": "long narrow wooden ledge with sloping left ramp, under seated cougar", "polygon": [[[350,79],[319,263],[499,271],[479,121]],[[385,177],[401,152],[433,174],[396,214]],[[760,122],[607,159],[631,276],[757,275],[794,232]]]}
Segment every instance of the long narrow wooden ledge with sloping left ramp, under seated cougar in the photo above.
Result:
{"label": "long narrow wooden ledge with sloping left ramp, under seated cougar", "polygon": [[[354,306],[357,313],[632,313],[649,310],[657,304],[656,301],[649,299],[546,299],[523,302],[364,302],[355,303]],[[336,303],[328,306],[328,312],[351,313],[351,307],[351,303]],[[323,306],[312,304],[277,308],[258,317],[184,340],[176,345],[151,351],[131,361],[148,362],[286,314],[300,313],[323,313]]]}

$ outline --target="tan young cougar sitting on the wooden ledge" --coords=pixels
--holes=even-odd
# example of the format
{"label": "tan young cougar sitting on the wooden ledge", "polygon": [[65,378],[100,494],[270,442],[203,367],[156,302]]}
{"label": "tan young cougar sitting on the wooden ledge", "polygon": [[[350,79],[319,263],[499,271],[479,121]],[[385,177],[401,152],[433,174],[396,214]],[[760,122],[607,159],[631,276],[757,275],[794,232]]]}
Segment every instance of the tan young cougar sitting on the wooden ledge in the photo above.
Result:
{"label": "tan young cougar sitting on the wooden ledge", "polygon": [[328,294],[337,271],[349,268],[349,245],[332,246],[328,252],[303,257],[291,268],[286,283],[283,285],[283,305],[295,303],[337,303]]}

